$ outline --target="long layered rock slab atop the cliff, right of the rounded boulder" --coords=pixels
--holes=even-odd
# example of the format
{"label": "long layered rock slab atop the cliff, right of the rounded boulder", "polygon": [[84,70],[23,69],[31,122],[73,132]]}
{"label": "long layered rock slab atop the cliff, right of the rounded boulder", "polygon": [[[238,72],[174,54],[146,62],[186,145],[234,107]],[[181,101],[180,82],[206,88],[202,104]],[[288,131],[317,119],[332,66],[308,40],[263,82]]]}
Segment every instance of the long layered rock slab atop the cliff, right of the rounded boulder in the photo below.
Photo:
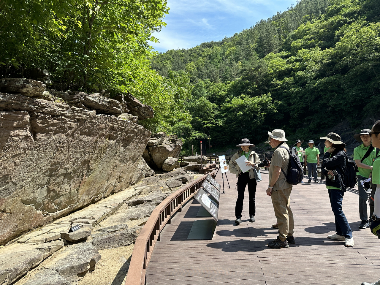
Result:
{"label": "long layered rock slab atop the cliff, right of the rounded boulder", "polygon": [[119,116],[123,112],[119,101],[101,96],[100,93],[61,92],[60,97],[65,100],[68,105],[95,110],[97,114]]}

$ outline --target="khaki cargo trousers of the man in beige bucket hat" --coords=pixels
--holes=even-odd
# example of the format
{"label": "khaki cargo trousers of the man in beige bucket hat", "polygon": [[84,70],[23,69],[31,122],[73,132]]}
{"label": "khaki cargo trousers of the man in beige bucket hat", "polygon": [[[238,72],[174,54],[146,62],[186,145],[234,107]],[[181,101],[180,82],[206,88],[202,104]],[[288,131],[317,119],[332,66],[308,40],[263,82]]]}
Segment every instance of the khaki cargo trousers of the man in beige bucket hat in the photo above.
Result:
{"label": "khaki cargo trousers of the man in beige bucket hat", "polygon": [[272,204],[274,214],[279,226],[279,238],[285,241],[287,236],[293,236],[294,220],[293,212],[290,209],[290,193],[293,186],[284,190],[272,190]]}

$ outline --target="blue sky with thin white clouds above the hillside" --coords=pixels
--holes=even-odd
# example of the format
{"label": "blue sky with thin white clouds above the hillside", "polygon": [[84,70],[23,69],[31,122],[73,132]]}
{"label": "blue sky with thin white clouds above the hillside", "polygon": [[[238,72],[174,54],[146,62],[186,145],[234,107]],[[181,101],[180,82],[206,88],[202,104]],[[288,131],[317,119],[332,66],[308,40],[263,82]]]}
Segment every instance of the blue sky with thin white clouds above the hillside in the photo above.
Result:
{"label": "blue sky with thin white clouds above the hillside", "polygon": [[168,0],[167,26],[154,33],[160,43],[151,44],[156,51],[165,52],[222,40],[285,11],[292,3],[296,0]]}

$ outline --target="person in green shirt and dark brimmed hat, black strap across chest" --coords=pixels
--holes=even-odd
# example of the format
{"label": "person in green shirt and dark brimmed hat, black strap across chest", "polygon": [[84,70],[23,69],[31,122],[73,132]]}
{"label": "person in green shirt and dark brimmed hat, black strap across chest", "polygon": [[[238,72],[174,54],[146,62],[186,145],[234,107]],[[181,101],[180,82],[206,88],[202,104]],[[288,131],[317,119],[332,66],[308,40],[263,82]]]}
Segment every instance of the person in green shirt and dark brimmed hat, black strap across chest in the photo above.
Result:
{"label": "person in green shirt and dark brimmed hat, black strap across chest", "polygon": [[[376,149],[371,144],[371,137],[369,135],[371,130],[364,129],[361,130],[359,134],[354,135],[354,138],[363,142],[360,146],[354,149],[354,160],[356,166],[358,166],[358,172],[356,176],[358,177],[358,189],[359,189],[359,217],[361,223],[359,228],[365,229],[369,226],[368,216],[367,216],[367,199],[368,193],[363,188],[361,181],[366,180],[371,177],[372,165],[374,159],[376,158]],[[366,153],[368,152],[368,155]],[[367,156],[364,158],[364,156]],[[364,158],[364,159],[363,159]]]}

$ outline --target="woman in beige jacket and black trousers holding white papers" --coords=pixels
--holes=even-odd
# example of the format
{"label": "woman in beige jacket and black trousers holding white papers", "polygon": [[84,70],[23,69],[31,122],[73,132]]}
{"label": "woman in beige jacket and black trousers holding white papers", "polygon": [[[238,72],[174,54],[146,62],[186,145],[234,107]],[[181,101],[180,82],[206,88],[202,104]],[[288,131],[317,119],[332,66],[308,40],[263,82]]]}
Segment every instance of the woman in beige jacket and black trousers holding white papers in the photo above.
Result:
{"label": "woman in beige jacket and black trousers holding white papers", "polygon": [[240,144],[241,151],[236,152],[230,160],[230,172],[235,173],[237,178],[237,201],[235,206],[236,223],[241,223],[241,213],[243,211],[243,200],[245,187],[248,184],[249,193],[249,221],[255,222],[255,196],[256,196],[256,179],[253,167],[258,169],[257,165],[261,162],[258,154],[250,150],[251,144],[249,139],[242,139]]}

